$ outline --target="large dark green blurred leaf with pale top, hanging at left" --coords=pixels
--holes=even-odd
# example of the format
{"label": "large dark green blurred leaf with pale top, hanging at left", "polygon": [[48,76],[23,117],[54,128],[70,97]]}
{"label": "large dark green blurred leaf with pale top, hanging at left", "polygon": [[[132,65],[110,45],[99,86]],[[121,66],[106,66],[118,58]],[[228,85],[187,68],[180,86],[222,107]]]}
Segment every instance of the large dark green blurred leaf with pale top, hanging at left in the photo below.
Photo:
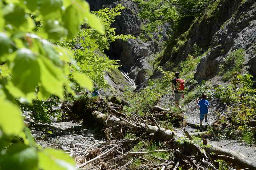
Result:
{"label": "large dark green blurred leaf with pale top, hanging at left", "polygon": [[25,94],[34,92],[40,81],[40,68],[36,57],[27,48],[17,51],[12,68],[12,83]]}

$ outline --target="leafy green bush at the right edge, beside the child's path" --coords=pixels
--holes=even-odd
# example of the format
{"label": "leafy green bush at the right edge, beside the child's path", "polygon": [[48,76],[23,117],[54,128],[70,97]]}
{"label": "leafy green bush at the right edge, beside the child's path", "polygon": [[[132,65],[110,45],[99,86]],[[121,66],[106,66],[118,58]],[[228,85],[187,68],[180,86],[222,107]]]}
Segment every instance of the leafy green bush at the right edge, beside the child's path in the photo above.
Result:
{"label": "leafy green bush at the right edge, beside the child's path", "polygon": [[252,138],[252,135],[247,133],[250,131],[248,123],[256,118],[256,89],[253,88],[252,78],[249,74],[238,75],[232,79],[230,85],[219,85],[215,89],[215,97],[230,105],[227,111],[229,113],[220,117],[220,123],[228,124],[230,128],[235,129],[234,133],[242,136],[247,143],[249,140],[255,140],[255,137]]}

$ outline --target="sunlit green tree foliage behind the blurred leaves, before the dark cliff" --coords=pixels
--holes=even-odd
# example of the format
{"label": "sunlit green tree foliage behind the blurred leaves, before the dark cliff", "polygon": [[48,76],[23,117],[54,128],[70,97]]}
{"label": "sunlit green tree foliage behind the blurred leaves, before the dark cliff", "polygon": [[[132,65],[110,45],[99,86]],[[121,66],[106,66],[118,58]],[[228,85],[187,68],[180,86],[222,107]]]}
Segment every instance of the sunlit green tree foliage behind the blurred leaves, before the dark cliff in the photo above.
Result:
{"label": "sunlit green tree foliage behind the blurred leaves, before the dark cliff", "polygon": [[[74,59],[77,61],[80,71],[92,78],[94,83],[99,87],[108,86],[103,77],[104,72],[110,72],[111,70],[115,70],[119,67],[117,65],[118,60],[109,60],[103,51],[108,49],[110,43],[114,42],[116,39],[122,39],[125,41],[128,38],[133,38],[131,35],[116,35],[115,28],[111,27],[115,17],[120,15],[120,10],[123,9],[124,7],[121,4],[118,4],[112,9],[105,8],[97,12],[93,12],[99,16],[101,23],[104,26],[104,36],[96,30],[88,27],[80,30],[72,40],[56,42],[56,44],[60,46],[73,49],[75,54]],[[74,49],[74,46],[77,44],[79,44],[80,47]],[[77,67],[72,67],[72,70],[75,71],[72,75],[74,76],[75,74],[78,76],[76,79],[74,78],[76,82],[79,84],[82,83],[81,81],[87,82],[86,78],[81,78],[81,76],[83,76],[82,74],[76,72]]]}

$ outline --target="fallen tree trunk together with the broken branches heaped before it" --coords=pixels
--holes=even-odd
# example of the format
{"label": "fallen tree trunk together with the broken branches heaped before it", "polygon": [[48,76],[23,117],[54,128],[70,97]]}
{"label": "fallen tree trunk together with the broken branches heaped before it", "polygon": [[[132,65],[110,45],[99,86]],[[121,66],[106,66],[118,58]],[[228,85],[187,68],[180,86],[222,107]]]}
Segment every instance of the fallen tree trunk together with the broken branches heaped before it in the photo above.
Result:
{"label": "fallen tree trunk together with the broken branches heaped before it", "polygon": [[[94,158],[81,162],[77,168],[81,168],[93,161],[101,159],[102,166],[105,169],[123,169],[124,167],[132,164],[134,159],[141,158],[141,155],[150,154],[151,152],[173,152],[173,159],[166,160],[161,158],[156,158],[161,160],[163,163],[156,165],[156,164],[148,164],[150,168],[160,168],[160,169],[168,169],[168,167],[172,167],[177,169],[178,166],[186,166],[191,169],[217,169],[216,161],[214,160],[225,160],[226,162],[232,164],[233,167],[240,168],[240,169],[250,169],[256,170],[256,162],[245,157],[242,154],[239,154],[235,151],[231,151],[225,148],[221,148],[212,144],[207,144],[207,141],[204,139],[203,144],[201,141],[198,142],[198,138],[195,139],[192,136],[198,134],[189,134],[186,133],[186,136],[176,133],[169,129],[161,128],[156,120],[152,116],[155,124],[157,126],[152,126],[147,124],[140,116],[132,114],[133,116],[126,115],[124,117],[115,117],[115,116],[107,116],[100,112],[94,111],[91,114],[91,119],[104,125],[108,129],[119,129],[119,133],[110,133],[112,137],[124,137],[122,134],[125,129],[130,128],[133,132],[142,131],[145,132],[144,134],[151,134],[155,140],[158,141],[168,141],[163,146],[161,146],[156,151],[140,151],[140,152],[132,152],[131,149],[127,147],[129,143],[136,143],[140,140],[140,137],[134,140],[130,139],[123,139],[123,140],[114,140],[108,141],[112,144],[104,145],[102,147],[101,154],[95,155]],[[197,142],[195,142],[197,140]],[[88,154],[87,154],[88,155]],[[81,156],[81,155],[80,155]],[[111,157],[111,158],[110,158]],[[127,159],[131,157],[132,159]],[[143,161],[148,161],[147,159],[141,158]],[[103,168],[103,169],[104,169]],[[149,168],[149,167],[148,167]]]}

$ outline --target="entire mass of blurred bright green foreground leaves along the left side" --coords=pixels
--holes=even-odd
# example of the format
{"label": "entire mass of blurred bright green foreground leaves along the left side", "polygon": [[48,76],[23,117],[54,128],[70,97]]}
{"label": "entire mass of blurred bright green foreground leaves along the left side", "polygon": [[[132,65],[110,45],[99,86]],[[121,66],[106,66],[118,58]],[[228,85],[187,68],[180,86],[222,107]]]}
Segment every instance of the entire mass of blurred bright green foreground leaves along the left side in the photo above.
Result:
{"label": "entire mass of blurred bright green foreground leaves along the left side", "polygon": [[[33,136],[24,127],[17,100],[40,106],[44,113],[46,107],[41,106],[41,100],[51,94],[63,99],[64,86],[67,93],[75,94],[69,80],[71,70],[79,71],[73,53],[46,39],[70,39],[85,21],[104,33],[100,19],[84,0],[0,1],[1,170],[75,169],[74,160],[63,152],[36,148]],[[91,79],[79,72],[72,76],[92,90]]]}

